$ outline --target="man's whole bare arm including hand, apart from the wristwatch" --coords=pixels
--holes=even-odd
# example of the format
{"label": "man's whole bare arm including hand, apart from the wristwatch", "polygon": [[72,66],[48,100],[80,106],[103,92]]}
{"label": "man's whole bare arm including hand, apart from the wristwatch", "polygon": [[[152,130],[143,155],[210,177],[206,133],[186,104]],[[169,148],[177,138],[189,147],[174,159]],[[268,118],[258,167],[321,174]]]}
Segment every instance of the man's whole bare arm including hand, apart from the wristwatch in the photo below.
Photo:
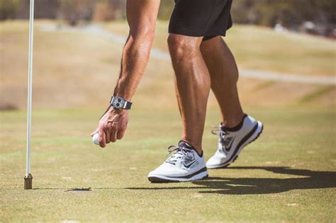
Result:
{"label": "man's whole bare arm including hand, apart from the wristwatch", "polygon": [[[122,96],[131,101],[136,88],[145,72],[155,33],[155,23],[160,0],[128,0],[126,6],[127,21],[130,27],[127,42],[121,59],[121,74],[114,96]],[[122,139],[128,124],[127,110],[108,108],[99,121],[94,135],[99,133],[99,145]]]}

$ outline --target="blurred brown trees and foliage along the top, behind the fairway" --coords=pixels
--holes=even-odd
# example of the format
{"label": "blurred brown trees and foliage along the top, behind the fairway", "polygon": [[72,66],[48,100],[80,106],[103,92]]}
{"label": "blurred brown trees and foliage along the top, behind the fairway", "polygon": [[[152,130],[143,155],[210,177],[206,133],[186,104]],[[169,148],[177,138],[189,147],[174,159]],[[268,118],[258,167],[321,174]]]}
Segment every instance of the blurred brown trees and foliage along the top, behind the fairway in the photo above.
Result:
{"label": "blurred brown trees and foliage along the top, behind the fairway", "polygon": [[[28,18],[28,0],[1,0],[0,20]],[[35,17],[80,21],[125,19],[126,0],[35,0]],[[159,19],[167,20],[173,0],[162,0]],[[335,36],[335,0],[234,0],[235,23],[265,25]]]}

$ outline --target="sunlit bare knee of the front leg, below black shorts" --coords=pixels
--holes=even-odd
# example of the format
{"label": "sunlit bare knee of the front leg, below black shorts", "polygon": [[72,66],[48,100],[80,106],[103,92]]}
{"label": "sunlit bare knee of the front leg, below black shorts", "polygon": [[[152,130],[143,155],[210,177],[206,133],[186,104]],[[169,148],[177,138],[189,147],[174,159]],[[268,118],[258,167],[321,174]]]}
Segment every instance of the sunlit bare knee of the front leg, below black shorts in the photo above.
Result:
{"label": "sunlit bare knee of the front leg, below black shorts", "polygon": [[172,59],[183,58],[187,55],[192,55],[193,52],[199,50],[197,38],[185,35],[169,34],[167,42]]}

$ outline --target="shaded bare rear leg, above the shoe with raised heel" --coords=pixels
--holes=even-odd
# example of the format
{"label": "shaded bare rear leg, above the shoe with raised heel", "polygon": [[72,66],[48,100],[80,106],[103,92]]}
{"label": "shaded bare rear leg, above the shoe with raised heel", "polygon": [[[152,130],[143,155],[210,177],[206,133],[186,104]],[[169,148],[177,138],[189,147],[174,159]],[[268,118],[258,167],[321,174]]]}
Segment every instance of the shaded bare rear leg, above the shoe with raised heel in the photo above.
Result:
{"label": "shaded bare rear leg, above the shoe with raised heel", "polygon": [[235,127],[244,116],[237,91],[235,58],[220,36],[203,41],[201,52],[210,72],[211,89],[220,105],[223,125]]}

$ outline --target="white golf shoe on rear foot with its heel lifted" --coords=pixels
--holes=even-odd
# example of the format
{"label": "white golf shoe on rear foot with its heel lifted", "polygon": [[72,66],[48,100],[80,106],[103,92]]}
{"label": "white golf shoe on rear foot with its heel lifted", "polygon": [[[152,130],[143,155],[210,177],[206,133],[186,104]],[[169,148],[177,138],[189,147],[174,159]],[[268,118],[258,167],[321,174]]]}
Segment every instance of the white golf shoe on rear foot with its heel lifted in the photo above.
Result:
{"label": "white golf shoe on rear foot with its heel lifted", "polygon": [[232,164],[237,159],[240,151],[253,142],[262,133],[262,122],[254,120],[249,115],[244,115],[242,122],[233,129],[225,128],[222,125],[213,131],[218,134],[218,149],[215,154],[206,162],[208,168],[221,168]]}

